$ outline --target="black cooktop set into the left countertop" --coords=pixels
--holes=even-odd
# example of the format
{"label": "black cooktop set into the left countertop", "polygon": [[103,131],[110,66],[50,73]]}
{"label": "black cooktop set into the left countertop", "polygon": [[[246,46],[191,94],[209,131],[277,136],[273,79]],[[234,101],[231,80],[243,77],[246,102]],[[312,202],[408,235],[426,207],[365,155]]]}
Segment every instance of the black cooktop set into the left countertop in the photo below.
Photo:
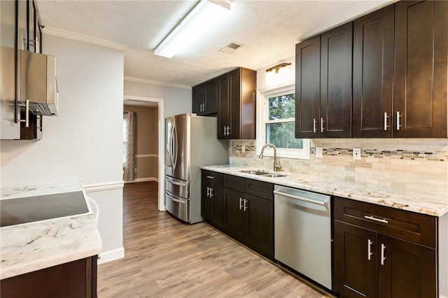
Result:
{"label": "black cooktop set into the left countertop", "polygon": [[0,227],[88,213],[82,191],[0,200]]}

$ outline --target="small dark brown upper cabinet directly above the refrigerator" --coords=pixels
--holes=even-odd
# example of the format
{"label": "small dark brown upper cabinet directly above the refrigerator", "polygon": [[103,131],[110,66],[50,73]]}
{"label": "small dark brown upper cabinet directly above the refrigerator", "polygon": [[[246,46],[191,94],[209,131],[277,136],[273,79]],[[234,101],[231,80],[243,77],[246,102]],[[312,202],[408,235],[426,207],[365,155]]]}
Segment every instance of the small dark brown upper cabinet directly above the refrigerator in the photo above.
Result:
{"label": "small dark brown upper cabinet directly above the refrigerator", "polygon": [[193,113],[197,115],[216,115],[218,113],[217,78],[193,87]]}

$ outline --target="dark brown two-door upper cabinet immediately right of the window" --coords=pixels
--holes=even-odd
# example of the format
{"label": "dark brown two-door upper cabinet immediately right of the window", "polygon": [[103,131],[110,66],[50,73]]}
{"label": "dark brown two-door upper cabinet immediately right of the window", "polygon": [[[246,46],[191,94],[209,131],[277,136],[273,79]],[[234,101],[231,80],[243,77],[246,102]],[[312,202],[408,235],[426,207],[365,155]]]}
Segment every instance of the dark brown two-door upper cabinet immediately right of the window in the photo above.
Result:
{"label": "dark brown two-door upper cabinet immediately right of the window", "polygon": [[351,137],[353,23],[295,46],[295,137]]}

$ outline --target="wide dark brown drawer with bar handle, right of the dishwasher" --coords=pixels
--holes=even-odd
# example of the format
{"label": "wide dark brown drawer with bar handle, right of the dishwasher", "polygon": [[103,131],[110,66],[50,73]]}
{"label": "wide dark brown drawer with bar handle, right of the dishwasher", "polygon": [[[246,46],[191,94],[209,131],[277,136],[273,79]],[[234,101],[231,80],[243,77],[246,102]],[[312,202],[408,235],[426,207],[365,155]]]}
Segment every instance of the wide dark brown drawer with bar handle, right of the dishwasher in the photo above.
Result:
{"label": "wide dark brown drawer with bar handle, right of the dishwasher", "polygon": [[335,220],[436,248],[437,218],[386,206],[335,197]]}

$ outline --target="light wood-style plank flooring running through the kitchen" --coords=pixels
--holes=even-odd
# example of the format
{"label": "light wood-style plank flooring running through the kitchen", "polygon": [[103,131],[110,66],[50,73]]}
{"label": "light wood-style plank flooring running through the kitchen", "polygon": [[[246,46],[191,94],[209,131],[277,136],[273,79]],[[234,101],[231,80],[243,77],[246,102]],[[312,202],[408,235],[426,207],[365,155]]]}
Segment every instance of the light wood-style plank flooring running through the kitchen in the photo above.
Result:
{"label": "light wood-style plank flooring running through the kitchen", "polygon": [[158,211],[157,193],[155,182],[125,185],[125,258],[99,265],[99,297],[328,297],[216,229]]}

